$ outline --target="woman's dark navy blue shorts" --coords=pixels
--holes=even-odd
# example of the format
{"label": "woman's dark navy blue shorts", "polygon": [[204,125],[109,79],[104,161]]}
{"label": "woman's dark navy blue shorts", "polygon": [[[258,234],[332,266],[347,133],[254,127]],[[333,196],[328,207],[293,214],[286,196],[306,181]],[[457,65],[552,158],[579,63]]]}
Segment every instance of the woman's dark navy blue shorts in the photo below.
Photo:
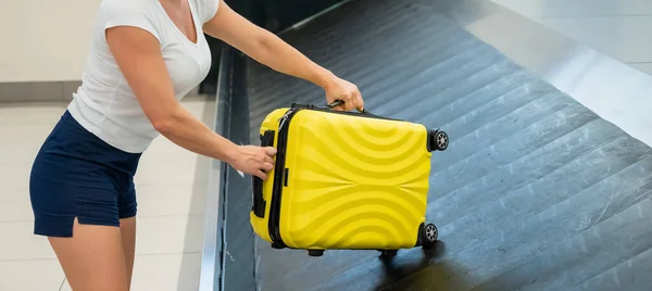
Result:
{"label": "woman's dark navy blue shorts", "polygon": [[39,150],[29,179],[34,233],[72,237],[79,224],[120,226],[136,216],[140,153],[118,150],[66,111]]}

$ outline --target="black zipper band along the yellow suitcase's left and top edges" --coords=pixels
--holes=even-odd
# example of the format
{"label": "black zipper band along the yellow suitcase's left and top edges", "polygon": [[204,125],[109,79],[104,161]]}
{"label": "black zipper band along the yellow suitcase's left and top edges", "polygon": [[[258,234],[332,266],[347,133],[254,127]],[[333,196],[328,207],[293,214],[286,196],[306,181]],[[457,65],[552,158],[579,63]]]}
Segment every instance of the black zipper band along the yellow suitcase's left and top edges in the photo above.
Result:
{"label": "black zipper band along the yellow suitcase's left and top edges", "polygon": [[347,111],[335,111],[331,109],[317,107],[314,105],[305,105],[305,104],[292,104],[291,109],[286,112],[286,114],[280,118],[278,126],[278,142],[277,142],[277,152],[276,152],[276,165],[274,167],[274,173],[276,173],[274,177],[274,186],[272,189],[272,205],[269,206],[269,218],[268,218],[268,232],[269,238],[272,239],[272,246],[276,249],[287,248],[283,238],[280,237],[279,229],[279,220],[280,220],[280,200],[283,198],[283,187],[284,181],[287,177],[284,177],[286,174],[285,170],[285,160],[286,160],[286,149],[288,141],[288,129],[290,126],[290,122],[292,117],[301,111],[301,110],[314,110],[322,112],[330,112],[334,114],[346,114],[346,115],[354,115],[359,117],[366,118],[376,118],[376,119],[389,119],[389,121],[399,121],[387,118],[369,113],[354,113]]}

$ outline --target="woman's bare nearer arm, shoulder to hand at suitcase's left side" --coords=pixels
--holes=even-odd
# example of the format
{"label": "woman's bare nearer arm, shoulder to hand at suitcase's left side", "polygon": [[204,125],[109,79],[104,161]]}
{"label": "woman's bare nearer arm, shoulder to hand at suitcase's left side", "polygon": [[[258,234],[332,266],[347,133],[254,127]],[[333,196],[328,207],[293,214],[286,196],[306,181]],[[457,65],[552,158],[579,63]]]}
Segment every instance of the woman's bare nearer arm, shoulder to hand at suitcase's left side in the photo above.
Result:
{"label": "woman's bare nearer arm, shoulder to hand at suitcase's left side", "polygon": [[276,150],[237,146],[186,111],[174,97],[156,38],[140,28],[120,26],[106,29],[106,42],[145,114],[161,135],[187,150],[266,179],[261,169],[272,169]]}

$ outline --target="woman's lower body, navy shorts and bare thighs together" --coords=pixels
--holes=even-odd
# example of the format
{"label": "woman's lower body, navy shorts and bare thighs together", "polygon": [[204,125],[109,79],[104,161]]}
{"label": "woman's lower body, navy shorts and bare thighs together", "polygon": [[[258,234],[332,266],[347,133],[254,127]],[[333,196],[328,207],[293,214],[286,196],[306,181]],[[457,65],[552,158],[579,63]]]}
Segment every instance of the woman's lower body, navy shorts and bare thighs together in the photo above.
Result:
{"label": "woman's lower body, navy shorts and bare thighs together", "polygon": [[123,176],[139,157],[100,140],[67,111],[39,150],[29,179],[34,232],[48,237],[75,291],[129,290],[135,219],[121,218],[135,212],[121,200],[131,185]]}

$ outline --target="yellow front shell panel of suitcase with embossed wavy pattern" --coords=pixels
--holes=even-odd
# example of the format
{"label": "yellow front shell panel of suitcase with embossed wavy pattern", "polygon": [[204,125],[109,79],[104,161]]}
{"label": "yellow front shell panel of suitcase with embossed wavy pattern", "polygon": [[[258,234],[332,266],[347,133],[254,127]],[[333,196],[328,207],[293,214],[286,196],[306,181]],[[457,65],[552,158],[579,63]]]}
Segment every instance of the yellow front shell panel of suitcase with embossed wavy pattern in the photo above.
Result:
{"label": "yellow front shell panel of suitcase with embossed wavy pattern", "polygon": [[284,189],[281,215],[288,245],[414,245],[430,173],[423,126],[302,112],[289,132],[293,155],[286,162],[290,185]]}

